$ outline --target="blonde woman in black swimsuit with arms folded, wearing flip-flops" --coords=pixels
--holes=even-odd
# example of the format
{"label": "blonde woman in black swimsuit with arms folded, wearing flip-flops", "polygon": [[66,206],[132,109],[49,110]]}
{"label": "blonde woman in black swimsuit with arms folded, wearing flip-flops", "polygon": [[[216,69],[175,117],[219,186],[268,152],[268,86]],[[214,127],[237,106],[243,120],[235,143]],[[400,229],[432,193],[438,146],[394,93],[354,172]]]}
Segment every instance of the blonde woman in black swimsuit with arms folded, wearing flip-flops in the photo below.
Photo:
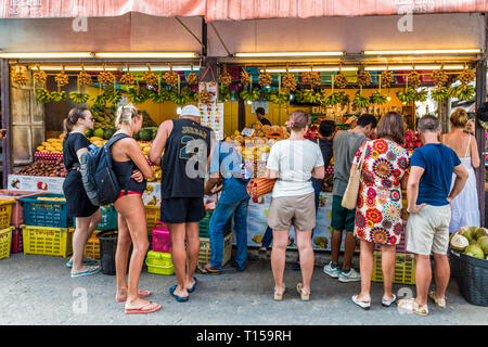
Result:
{"label": "blonde woman in black swimsuit with arms folded, wearing flip-flops", "polygon": [[[146,181],[153,177],[139,144],[132,139],[142,127],[142,115],[129,104],[117,110],[115,126],[118,130],[113,138],[116,142],[111,146],[112,163],[120,185],[120,195],[114,206],[118,213],[118,240],[115,253],[118,303],[126,303],[125,311],[130,313],[150,313],[160,309],[159,304],[151,303],[143,297],[151,295],[149,291],[139,291],[139,278],[149,247],[145,209],[142,202]],[[127,282],[127,264],[129,248],[132,255],[129,262],[129,281]]]}

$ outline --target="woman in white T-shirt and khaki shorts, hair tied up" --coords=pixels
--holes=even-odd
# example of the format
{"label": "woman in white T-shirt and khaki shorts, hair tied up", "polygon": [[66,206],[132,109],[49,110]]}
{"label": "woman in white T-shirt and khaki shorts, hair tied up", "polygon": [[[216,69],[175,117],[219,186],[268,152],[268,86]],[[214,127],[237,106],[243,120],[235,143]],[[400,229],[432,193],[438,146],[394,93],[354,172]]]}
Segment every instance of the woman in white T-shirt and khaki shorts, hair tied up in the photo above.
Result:
{"label": "woman in white T-shirt and khaki shorts, hair tied up", "polygon": [[323,179],[325,169],[317,143],[305,139],[310,115],[295,111],[286,126],[292,133],[277,142],[269,154],[266,177],[278,178],[272,192],[268,224],[273,230],[271,268],[274,277],[274,300],[282,300],[285,291],[283,272],[288,232],[293,224],[300,258],[303,283],[297,284],[301,300],[309,300],[313,272],[311,233],[316,226],[314,191],[311,178]]}

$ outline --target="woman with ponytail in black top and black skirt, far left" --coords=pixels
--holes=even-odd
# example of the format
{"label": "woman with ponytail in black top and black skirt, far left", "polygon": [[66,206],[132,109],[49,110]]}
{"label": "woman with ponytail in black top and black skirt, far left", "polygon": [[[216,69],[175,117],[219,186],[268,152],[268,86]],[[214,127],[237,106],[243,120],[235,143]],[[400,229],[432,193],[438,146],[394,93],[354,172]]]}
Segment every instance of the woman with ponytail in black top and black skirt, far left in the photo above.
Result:
{"label": "woman with ponytail in black top and black skirt, far left", "polygon": [[63,182],[63,193],[66,197],[67,217],[76,218],[76,229],[73,234],[73,257],[66,262],[72,268],[72,278],[94,274],[101,270],[95,260],[84,260],[85,246],[88,239],[102,220],[100,208],[91,204],[85,191],[79,172],[79,158],[91,145],[85,137],[85,131],[93,129],[93,116],[86,107],[75,107],[64,119],[63,163],[66,179]]}

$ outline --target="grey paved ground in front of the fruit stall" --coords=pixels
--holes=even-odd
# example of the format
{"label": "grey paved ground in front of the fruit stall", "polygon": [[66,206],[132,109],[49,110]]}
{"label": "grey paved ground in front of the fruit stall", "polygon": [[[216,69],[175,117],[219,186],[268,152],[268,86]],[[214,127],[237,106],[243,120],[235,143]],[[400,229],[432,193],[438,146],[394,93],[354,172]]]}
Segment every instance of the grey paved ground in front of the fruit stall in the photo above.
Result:
{"label": "grey paved ground in front of the fruit stall", "polygon": [[[292,253],[290,258],[294,258]],[[294,290],[299,272],[287,265],[288,286],[281,303],[272,299],[273,281],[269,254],[252,257],[248,268],[236,273],[229,265],[222,275],[200,275],[198,286],[188,303],[177,303],[168,294],[175,277],[147,273],[141,277],[141,288],[153,292],[152,300],[163,308],[152,314],[124,314],[124,304],[115,303],[115,277],[102,273],[72,279],[66,259],[59,257],[11,255],[0,260],[0,325],[4,324],[488,324],[488,308],[467,304],[455,281],[448,290],[448,308],[429,305],[431,314],[401,314],[396,307],[382,308],[382,285],[373,283],[373,306],[363,311],[350,301],[359,282],[339,283],[321,271],[318,257],[309,303],[303,303]],[[357,259],[355,259],[357,262]],[[409,292],[413,286],[395,285]],[[84,299],[86,297],[86,300]],[[86,305],[84,306],[84,303]]]}

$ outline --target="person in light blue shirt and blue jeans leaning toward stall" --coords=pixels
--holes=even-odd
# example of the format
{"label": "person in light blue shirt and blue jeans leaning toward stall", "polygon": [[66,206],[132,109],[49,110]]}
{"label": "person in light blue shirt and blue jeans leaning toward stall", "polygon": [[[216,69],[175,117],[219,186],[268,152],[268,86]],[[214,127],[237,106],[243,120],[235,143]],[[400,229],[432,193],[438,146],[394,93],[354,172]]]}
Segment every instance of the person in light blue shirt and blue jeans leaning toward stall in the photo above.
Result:
{"label": "person in light blue shirt and blue jeans leaning toward stall", "polygon": [[247,204],[249,195],[246,180],[243,178],[243,159],[232,142],[215,142],[210,162],[210,178],[205,184],[205,194],[210,194],[219,176],[223,178],[223,188],[214,214],[210,218],[209,239],[211,259],[209,264],[198,266],[204,274],[219,274],[222,269],[223,228],[234,216],[234,232],[237,243],[235,270],[244,271],[247,259]]}

